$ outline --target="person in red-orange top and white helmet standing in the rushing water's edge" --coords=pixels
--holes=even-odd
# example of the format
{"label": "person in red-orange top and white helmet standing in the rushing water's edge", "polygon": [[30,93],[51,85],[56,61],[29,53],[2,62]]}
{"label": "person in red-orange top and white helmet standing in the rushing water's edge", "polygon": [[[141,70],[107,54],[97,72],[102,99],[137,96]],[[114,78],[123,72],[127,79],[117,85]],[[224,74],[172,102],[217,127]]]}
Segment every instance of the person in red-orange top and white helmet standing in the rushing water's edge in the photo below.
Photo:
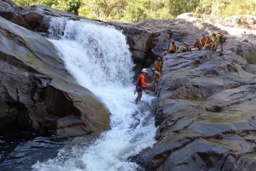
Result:
{"label": "person in red-orange top and white helmet standing in the rushing water's edge", "polygon": [[137,77],[137,85],[136,85],[137,98],[135,100],[136,104],[143,97],[143,88],[146,88],[149,86],[149,83],[145,82],[146,73],[147,73],[147,69],[143,68],[142,73]]}

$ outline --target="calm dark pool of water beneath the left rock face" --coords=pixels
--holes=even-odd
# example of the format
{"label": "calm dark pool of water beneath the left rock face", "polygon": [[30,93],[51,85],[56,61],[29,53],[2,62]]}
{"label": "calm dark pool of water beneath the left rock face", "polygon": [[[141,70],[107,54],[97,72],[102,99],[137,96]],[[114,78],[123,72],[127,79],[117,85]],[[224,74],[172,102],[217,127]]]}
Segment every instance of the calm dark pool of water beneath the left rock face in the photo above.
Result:
{"label": "calm dark pool of water beneath the left rock face", "polygon": [[56,157],[71,139],[60,139],[34,130],[13,130],[0,135],[0,170],[28,171],[36,162]]}

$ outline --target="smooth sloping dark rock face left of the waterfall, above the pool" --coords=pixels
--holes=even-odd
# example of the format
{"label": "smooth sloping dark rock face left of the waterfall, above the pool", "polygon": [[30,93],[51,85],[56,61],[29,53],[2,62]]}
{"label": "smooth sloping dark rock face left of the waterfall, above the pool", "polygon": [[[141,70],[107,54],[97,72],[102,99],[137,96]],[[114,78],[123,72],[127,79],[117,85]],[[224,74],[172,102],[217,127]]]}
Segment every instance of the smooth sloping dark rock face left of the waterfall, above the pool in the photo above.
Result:
{"label": "smooth sloping dark rock face left of the waterfall, above the pool", "polygon": [[0,26],[1,132],[14,122],[60,136],[110,128],[105,105],[73,80],[47,39],[2,17]]}

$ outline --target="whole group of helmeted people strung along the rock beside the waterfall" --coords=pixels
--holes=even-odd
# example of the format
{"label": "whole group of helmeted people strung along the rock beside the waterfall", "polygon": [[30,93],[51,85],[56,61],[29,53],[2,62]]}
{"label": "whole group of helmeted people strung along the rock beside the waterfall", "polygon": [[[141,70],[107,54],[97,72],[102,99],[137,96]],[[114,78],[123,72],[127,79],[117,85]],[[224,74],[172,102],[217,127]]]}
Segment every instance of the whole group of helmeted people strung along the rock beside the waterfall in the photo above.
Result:
{"label": "whole group of helmeted people strung along the rock beside the waterfall", "polygon": [[[161,55],[161,57],[158,57],[154,61],[154,67],[151,68],[151,71],[153,72],[154,81],[151,83],[152,88],[154,90],[154,95],[158,92],[158,82],[161,77],[161,67],[162,67],[162,61],[161,59],[164,57],[164,55],[168,53],[182,53],[182,52],[192,52],[193,50],[202,50],[202,49],[210,49],[213,51],[216,51],[218,49],[218,45],[220,44],[220,54],[219,56],[224,55],[224,43],[226,42],[227,37],[224,35],[224,33],[221,32],[212,32],[212,37],[210,35],[206,35],[205,33],[202,34],[201,38],[195,38],[195,43],[193,43],[193,48],[189,48],[189,43],[183,42],[183,46],[177,47],[175,42],[172,42],[171,47],[164,52],[164,54]],[[147,69],[143,68],[141,74],[137,77],[137,84],[135,88],[135,93],[137,92],[137,98],[135,102],[137,103],[139,100],[141,100],[143,96],[143,88],[146,88],[150,86],[149,83],[145,82],[145,75],[147,73]]]}

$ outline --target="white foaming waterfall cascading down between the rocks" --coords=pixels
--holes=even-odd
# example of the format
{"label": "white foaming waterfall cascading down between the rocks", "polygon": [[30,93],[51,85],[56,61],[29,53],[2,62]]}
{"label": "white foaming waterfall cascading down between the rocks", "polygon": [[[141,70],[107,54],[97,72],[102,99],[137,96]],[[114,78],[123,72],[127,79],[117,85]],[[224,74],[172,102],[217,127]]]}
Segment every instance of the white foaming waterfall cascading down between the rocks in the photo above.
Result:
{"label": "white foaming waterfall cascading down between the rocks", "polygon": [[131,53],[121,31],[86,20],[51,20],[51,41],[77,82],[107,105],[111,130],[97,140],[77,138],[33,171],[131,171],[128,157],[154,144],[153,97],[136,105]]}

